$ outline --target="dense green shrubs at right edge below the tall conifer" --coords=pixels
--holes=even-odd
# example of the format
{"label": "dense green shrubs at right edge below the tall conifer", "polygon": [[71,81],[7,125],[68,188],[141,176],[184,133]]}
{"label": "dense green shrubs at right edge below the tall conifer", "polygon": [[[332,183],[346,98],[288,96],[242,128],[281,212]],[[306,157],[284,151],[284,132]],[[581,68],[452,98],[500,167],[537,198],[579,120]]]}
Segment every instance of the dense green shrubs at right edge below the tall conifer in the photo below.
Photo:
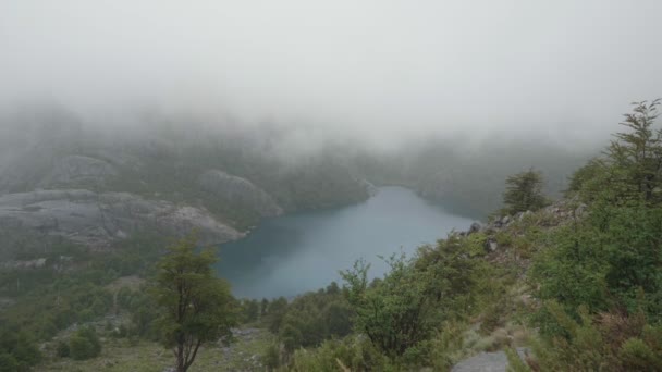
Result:
{"label": "dense green shrubs at right edge below the tall conifer", "polygon": [[592,204],[588,218],[559,228],[553,246],[536,258],[531,278],[538,296],[561,301],[568,311],[580,305],[634,311],[641,289],[649,315],[660,319],[661,234],[659,208]]}

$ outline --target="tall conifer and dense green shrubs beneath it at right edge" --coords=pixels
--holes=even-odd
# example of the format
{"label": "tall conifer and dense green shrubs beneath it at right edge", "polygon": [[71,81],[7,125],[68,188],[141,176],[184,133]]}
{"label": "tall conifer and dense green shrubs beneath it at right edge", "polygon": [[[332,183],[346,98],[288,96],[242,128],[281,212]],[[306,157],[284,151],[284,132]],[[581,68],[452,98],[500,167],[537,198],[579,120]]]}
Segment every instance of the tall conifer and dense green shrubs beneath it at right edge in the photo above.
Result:
{"label": "tall conifer and dense green shrubs beneath it at right edge", "polygon": [[615,135],[606,158],[575,173],[573,191],[589,202],[588,216],[560,228],[552,247],[536,258],[538,296],[569,313],[581,305],[590,312],[641,307],[651,320],[661,319],[662,133],[652,129],[658,106],[636,103],[622,123],[629,132]]}

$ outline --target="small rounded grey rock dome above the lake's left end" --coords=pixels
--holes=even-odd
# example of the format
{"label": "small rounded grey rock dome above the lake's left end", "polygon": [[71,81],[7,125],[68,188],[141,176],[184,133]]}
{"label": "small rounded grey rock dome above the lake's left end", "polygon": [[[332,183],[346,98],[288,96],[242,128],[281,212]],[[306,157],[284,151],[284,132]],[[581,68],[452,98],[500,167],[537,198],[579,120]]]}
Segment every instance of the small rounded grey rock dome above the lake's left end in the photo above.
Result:
{"label": "small rounded grey rock dome above the lake's left end", "polygon": [[198,185],[207,193],[231,202],[238,208],[257,212],[261,216],[283,213],[283,209],[250,181],[219,170],[210,170],[200,175]]}

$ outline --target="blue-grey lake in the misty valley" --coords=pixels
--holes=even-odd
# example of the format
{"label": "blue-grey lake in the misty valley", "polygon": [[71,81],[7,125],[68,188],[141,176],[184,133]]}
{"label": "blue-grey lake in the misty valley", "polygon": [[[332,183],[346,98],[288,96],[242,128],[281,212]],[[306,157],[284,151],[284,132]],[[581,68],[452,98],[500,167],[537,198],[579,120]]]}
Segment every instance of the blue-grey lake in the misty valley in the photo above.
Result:
{"label": "blue-grey lake in the misty valley", "polygon": [[221,246],[217,271],[240,298],[292,297],[340,284],[338,271],[360,258],[371,263],[371,277],[381,276],[388,266],[379,256],[413,253],[473,222],[407,188],[381,187],[359,204],[263,220],[246,238]]}

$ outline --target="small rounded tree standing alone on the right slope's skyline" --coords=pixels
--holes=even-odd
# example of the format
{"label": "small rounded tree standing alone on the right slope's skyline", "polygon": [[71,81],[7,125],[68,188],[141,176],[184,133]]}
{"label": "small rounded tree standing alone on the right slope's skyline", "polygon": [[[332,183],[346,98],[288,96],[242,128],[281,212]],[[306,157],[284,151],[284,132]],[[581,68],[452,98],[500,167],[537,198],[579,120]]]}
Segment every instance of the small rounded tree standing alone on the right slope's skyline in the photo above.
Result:
{"label": "small rounded tree standing alone on the right slope's skyline", "polygon": [[503,193],[506,212],[515,214],[544,207],[547,198],[542,195],[543,183],[542,174],[534,169],[508,176],[505,181],[505,193]]}

